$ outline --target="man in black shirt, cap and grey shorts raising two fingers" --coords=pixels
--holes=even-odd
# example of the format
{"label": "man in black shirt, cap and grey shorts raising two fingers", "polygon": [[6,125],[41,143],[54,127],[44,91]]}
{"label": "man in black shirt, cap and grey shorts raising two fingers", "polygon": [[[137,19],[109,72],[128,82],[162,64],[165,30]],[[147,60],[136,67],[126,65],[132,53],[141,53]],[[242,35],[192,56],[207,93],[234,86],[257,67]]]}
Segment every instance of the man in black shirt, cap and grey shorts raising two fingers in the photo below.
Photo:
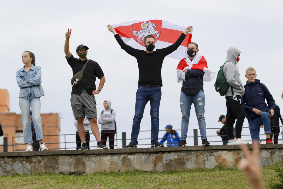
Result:
{"label": "man in black shirt, cap and grey shorts raising two fingers", "polygon": [[[75,119],[77,120],[78,133],[80,135],[80,140],[82,141],[82,146],[79,150],[87,150],[88,147],[85,142],[85,128],[83,126],[83,119],[85,116],[91,123],[91,130],[96,138],[98,149],[107,149],[107,146],[103,144],[99,134],[99,128],[97,125],[97,114],[96,114],[96,101],[95,94],[99,94],[104,83],[105,77],[102,72],[101,67],[97,62],[87,59],[86,55],[88,53],[88,47],[85,45],[79,45],[76,49],[79,59],[73,57],[69,50],[69,39],[71,36],[72,29],[66,32],[65,37],[65,47],[64,51],[66,54],[66,59],[68,64],[73,70],[73,75],[82,70],[83,65],[86,64],[83,71],[83,79],[78,86],[72,87],[71,95],[71,107]],[[88,60],[88,62],[87,62]],[[98,89],[96,90],[95,80],[96,77],[100,79]]]}

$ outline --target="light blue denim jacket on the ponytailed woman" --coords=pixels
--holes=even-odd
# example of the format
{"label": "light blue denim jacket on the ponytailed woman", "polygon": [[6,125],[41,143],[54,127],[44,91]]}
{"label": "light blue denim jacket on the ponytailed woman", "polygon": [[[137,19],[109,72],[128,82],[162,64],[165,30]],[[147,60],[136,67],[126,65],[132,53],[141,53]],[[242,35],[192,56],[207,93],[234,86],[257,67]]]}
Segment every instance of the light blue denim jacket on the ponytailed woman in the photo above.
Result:
{"label": "light blue denim jacket on the ponytailed woman", "polygon": [[[21,69],[17,70],[16,79],[20,87],[19,97],[27,98],[29,87],[32,88],[36,97],[44,95],[41,86],[41,67],[32,65],[29,72],[27,72],[23,66]],[[24,82],[25,80],[27,80],[27,82]]]}

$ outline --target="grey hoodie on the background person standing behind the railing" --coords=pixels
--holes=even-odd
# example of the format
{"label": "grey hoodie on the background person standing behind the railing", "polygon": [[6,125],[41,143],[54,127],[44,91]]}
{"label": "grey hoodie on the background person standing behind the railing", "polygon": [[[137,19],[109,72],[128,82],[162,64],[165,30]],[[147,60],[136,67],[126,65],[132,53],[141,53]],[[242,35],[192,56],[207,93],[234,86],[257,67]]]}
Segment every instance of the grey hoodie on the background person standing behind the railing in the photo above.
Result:
{"label": "grey hoodie on the background person standing behind the railing", "polygon": [[[108,103],[108,110],[104,109],[103,113],[101,115],[101,112],[99,113],[98,117],[98,123],[101,124],[101,130],[115,130],[115,117],[116,112],[113,110],[111,113],[111,101],[106,100]],[[103,120],[102,120],[103,118]]]}

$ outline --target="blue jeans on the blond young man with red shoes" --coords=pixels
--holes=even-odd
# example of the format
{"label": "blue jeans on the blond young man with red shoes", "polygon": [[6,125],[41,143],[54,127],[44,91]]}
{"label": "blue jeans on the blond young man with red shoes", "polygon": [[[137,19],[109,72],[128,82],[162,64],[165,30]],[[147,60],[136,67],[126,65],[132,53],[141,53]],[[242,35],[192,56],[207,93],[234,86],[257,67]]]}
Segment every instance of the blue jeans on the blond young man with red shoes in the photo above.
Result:
{"label": "blue jeans on the blond young man with red shoes", "polygon": [[259,141],[259,130],[261,125],[264,125],[263,128],[265,134],[271,133],[269,114],[267,112],[262,112],[260,117],[249,121],[251,140]]}

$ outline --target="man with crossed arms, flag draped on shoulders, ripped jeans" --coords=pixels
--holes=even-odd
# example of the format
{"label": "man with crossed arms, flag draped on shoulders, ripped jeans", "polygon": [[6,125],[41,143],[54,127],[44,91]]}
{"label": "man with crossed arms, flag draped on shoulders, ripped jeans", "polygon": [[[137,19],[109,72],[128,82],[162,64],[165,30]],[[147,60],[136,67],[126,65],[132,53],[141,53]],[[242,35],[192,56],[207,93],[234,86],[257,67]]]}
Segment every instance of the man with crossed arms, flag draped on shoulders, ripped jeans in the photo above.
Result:
{"label": "man with crossed arms, flag draped on shoulders, ripped jeans", "polygon": [[195,113],[198,118],[202,144],[204,146],[210,145],[206,138],[203,81],[211,81],[215,72],[208,69],[205,58],[198,54],[198,51],[198,44],[190,42],[187,46],[186,57],[179,62],[177,67],[177,82],[183,82],[180,96],[182,112],[181,141],[177,146],[186,146],[187,144],[186,139],[192,103],[194,103]]}

